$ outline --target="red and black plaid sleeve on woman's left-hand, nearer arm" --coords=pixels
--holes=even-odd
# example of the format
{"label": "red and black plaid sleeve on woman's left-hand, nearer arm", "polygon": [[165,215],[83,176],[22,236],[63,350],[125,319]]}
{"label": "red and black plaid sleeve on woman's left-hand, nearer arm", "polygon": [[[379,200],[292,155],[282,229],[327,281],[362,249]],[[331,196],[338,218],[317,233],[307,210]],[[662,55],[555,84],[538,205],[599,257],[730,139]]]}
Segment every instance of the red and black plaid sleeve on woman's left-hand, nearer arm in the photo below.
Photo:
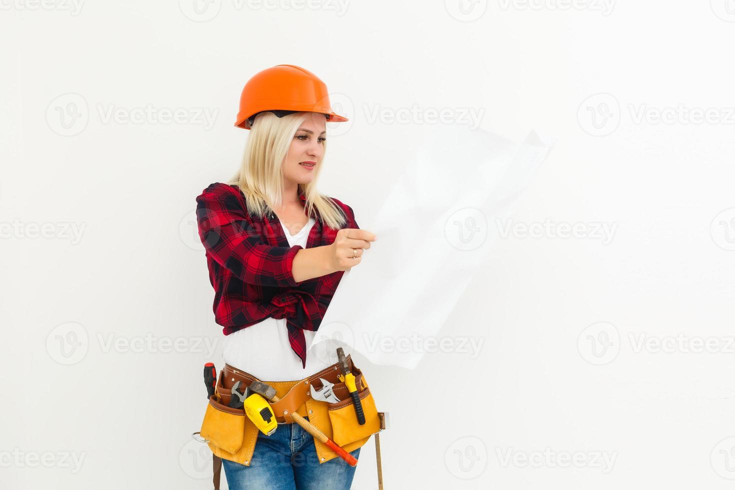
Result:
{"label": "red and black plaid sleeve on woman's left-hand, nearer arm", "polygon": [[249,284],[296,287],[291,267],[301,245],[266,245],[227,184],[209,185],[196,198],[199,238],[222,267]]}

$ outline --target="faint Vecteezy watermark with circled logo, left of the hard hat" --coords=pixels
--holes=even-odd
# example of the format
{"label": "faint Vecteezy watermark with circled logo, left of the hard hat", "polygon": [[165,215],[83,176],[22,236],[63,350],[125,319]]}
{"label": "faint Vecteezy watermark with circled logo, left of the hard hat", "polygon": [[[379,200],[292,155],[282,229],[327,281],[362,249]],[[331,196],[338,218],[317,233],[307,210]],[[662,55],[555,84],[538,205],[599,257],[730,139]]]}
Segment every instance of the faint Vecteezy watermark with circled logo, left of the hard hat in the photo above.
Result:
{"label": "faint Vecteezy watermark with circled logo, left of the hard hat", "polygon": [[[96,114],[102,124],[177,124],[202,126],[212,129],[219,109],[210,107],[123,107],[115,104],[96,104]],[[51,131],[61,136],[74,136],[87,127],[90,109],[78,93],[65,93],[51,101],[46,108],[46,122]]]}

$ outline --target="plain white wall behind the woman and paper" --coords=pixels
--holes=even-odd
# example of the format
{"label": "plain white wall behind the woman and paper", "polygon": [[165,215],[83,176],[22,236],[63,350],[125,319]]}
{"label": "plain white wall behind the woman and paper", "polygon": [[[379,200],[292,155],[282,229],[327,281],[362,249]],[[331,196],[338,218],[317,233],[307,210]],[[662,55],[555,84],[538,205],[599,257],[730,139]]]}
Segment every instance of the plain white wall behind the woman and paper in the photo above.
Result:
{"label": "plain white wall behind the woman and paper", "polygon": [[[279,63],[351,115],[320,187],[358,223],[399,135],[433,124],[390,118],[415,107],[556,138],[513,223],[615,226],[499,240],[441,332],[478,356],[362,364],[387,489],[732,486],[733,1],[79,2],[0,0],[0,486],[209,488],[189,434],[222,334],[194,198],[239,165],[240,90]],[[376,488],[372,441],[360,459]]]}

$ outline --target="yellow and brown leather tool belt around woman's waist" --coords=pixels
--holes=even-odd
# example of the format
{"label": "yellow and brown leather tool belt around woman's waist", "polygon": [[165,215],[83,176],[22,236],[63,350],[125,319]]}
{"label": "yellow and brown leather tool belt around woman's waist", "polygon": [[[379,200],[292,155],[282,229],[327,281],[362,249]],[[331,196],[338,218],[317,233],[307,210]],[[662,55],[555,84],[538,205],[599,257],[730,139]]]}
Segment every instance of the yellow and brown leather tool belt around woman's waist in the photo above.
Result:
{"label": "yellow and brown leather tool belt around woman's waist", "polygon": [[[338,378],[340,367],[336,363],[301,381],[265,381],[276,390],[276,395],[280,398],[279,401],[270,403],[277,422],[293,423],[291,414],[294,412],[302,417],[308,417],[309,422],[348,453],[362,447],[370,436],[380,432],[381,419],[368,382],[365,381],[362,371],[352,363],[351,356],[347,356],[347,362],[355,375],[357,391],[365,413],[365,424],[359,425],[357,422],[354,403],[347,386]],[[339,403],[312,399],[310,385],[313,384],[315,389],[321,389],[320,378],[334,383],[333,392],[341,400]],[[242,391],[253,381],[261,380],[225,364],[218,376],[215,394],[209,398],[209,405],[201,424],[201,436],[207,439],[207,445],[215,456],[250,466],[259,430],[245,415],[244,409],[229,406],[230,397],[233,396],[232,386],[237,381],[241,382]],[[314,439],[314,444],[320,463],[337,457],[337,453],[326,444],[317,439]]]}

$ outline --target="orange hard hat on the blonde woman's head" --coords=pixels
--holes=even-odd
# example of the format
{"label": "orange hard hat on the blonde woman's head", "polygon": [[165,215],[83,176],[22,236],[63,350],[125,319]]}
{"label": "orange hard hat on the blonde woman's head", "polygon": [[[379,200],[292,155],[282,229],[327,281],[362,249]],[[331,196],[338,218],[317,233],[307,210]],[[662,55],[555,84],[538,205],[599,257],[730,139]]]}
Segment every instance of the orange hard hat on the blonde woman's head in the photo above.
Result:
{"label": "orange hard hat on the blonde woman's head", "polygon": [[276,65],[249,79],[240,96],[240,112],[234,125],[250,129],[255,115],[264,111],[279,118],[292,112],[318,112],[330,123],[348,120],[331,110],[326,84],[296,65]]}

